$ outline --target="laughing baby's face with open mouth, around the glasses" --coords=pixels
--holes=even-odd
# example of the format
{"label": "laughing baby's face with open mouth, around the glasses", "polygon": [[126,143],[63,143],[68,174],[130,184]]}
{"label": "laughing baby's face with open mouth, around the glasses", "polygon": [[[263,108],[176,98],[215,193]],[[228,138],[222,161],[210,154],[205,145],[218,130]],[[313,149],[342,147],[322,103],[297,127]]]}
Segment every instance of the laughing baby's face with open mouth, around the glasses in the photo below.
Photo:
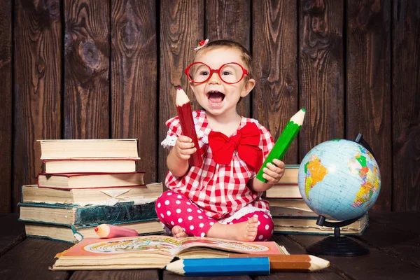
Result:
{"label": "laughing baby's face with open mouth, around the glasses", "polygon": [[[197,57],[196,61],[207,64],[211,69],[219,69],[223,64],[229,62],[237,62],[246,69],[244,61],[241,59],[241,53],[232,48],[209,50]],[[246,97],[254,85],[255,80],[249,79],[247,76],[244,76],[239,83],[224,83],[215,72],[211,73],[211,77],[205,83],[197,84],[190,81],[190,87],[193,89],[197,102],[206,110],[206,113],[213,116],[225,114],[235,116],[239,99]]]}

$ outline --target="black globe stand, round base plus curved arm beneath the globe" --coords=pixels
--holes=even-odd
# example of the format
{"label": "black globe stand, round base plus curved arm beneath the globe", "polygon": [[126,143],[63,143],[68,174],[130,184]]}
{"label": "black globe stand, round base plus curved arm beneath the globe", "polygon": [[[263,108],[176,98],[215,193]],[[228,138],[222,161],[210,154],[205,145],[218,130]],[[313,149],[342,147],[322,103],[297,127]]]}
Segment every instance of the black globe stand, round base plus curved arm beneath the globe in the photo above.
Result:
{"label": "black globe stand, round base plus curved arm beneath the globe", "polygon": [[334,255],[337,257],[355,257],[367,255],[369,249],[358,242],[340,235],[339,228],[356,222],[360,217],[342,222],[327,222],[324,216],[318,216],[316,225],[334,228],[334,236],[326,237],[307,248],[307,252],[313,255]]}

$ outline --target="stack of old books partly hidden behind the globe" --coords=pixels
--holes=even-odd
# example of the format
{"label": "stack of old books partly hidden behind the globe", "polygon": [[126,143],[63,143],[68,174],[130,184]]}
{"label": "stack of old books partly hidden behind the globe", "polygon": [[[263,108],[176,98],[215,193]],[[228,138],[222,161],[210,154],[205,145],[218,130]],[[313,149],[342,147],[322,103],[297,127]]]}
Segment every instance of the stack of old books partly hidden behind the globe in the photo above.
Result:
{"label": "stack of old books partly hidden behind the globe", "polygon": [[[274,232],[281,234],[332,235],[334,228],[316,225],[318,214],[302,199],[297,174],[300,165],[286,165],[283,177],[265,192],[274,221]],[[362,235],[368,225],[365,214],[358,221],[340,228],[342,235]]]}

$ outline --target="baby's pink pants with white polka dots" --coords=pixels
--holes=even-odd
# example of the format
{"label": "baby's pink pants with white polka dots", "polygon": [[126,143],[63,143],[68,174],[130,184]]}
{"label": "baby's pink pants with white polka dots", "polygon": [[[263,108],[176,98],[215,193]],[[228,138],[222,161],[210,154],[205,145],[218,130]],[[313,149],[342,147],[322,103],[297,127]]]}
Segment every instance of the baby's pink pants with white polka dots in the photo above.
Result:
{"label": "baby's pink pants with white polka dots", "polygon": [[[204,211],[188,199],[185,195],[168,190],[156,201],[156,213],[160,221],[169,229],[175,225],[183,228],[189,236],[204,237],[214,223],[218,221],[204,214]],[[274,223],[263,211],[255,211],[230,224],[248,221],[252,216],[258,217],[258,232],[255,241],[266,241],[272,237]]]}

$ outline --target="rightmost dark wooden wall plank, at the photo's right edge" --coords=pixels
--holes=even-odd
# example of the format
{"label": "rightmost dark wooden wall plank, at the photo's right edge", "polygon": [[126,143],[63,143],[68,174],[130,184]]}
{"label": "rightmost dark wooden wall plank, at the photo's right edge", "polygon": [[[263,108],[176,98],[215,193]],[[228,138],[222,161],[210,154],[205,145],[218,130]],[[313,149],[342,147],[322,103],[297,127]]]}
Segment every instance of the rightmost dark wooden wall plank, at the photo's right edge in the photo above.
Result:
{"label": "rightmost dark wooden wall plank, at the photo's right edge", "polygon": [[392,208],[419,210],[420,2],[393,2],[392,27]]}

